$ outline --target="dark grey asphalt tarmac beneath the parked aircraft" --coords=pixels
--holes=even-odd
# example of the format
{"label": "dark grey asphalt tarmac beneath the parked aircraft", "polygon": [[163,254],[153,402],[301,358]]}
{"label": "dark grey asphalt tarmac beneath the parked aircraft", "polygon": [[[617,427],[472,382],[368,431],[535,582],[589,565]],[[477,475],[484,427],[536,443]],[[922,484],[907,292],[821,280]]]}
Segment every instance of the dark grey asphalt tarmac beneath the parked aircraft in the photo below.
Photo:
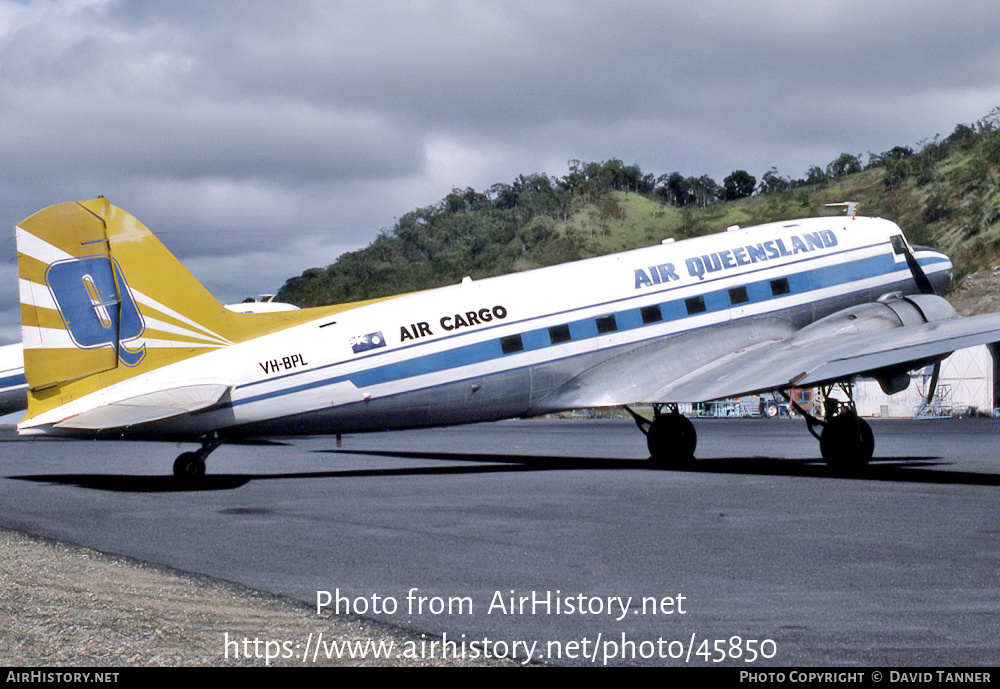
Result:
{"label": "dark grey asphalt tarmac beneath the parked aircraft", "polygon": [[630,421],[533,420],[223,446],[198,489],[190,445],[8,429],[0,527],[516,660],[995,665],[1000,422],[872,425],[863,477],[801,421],[696,421],[674,471]]}

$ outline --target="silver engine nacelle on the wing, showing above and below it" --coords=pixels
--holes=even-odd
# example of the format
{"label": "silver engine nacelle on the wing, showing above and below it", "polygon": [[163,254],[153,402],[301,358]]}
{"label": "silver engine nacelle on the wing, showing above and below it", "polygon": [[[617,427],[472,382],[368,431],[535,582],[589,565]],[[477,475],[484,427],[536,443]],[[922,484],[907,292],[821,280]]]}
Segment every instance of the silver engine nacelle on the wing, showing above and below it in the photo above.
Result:
{"label": "silver engine nacelle on the wing, showing above and below it", "polygon": [[[877,302],[851,306],[821,318],[795,333],[791,344],[820,345],[839,335],[861,335],[876,333],[892,328],[922,325],[934,321],[957,318],[954,307],[942,297],[933,294],[916,294],[909,297],[888,295]],[[904,364],[866,371],[865,378],[878,381],[882,392],[893,395],[902,392],[910,384],[909,372],[942,361],[949,355],[908,361]]]}

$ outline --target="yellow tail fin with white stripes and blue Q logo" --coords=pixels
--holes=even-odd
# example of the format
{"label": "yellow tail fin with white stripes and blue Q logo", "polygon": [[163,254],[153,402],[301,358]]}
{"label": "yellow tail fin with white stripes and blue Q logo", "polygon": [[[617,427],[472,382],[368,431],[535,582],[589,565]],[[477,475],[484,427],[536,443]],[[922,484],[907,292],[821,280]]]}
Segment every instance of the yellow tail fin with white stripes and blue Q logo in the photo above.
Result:
{"label": "yellow tail fin with white stripes and blue Q logo", "polygon": [[16,236],[26,419],[302,320],[299,312],[230,312],[104,198],[39,211]]}

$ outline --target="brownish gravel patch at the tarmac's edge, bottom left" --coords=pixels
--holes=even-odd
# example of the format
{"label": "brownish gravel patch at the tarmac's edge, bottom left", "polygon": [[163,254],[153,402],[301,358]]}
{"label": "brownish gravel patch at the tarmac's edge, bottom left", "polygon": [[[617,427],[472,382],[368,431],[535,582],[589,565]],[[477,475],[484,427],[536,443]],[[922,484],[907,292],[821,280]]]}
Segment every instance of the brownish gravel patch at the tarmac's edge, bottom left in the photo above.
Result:
{"label": "brownish gravel patch at the tarmac's edge, bottom left", "polygon": [[[322,617],[302,603],[207,577],[0,530],[0,666],[483,666],[496,660],[405,657],[234,658],[225,641],[260,639],[305,647],[310,634],[391,641],[419,634],[365,619]],[[435,637],[428,635],[425,640]],[[413,645],[411,644],[411,648]],[[272,646],[273,650],[278,647]],[[300,650],[301,652],[301,650]],[[311,655],[311,654],[310,654]],[[440,655],[440,654],[438,654]]]}

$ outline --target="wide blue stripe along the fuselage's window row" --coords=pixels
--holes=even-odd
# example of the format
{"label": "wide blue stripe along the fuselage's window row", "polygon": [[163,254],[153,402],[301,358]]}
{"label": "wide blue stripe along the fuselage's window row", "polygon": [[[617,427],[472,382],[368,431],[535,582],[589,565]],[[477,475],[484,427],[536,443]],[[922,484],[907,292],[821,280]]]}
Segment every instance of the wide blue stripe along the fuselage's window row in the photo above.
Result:
{"label": "wide blue stripe along the fuselage's window row", "polygon": [[[935,262],[935,261],[929,261]],[[897,272],[902,268],[893,261],[889,254],[880,254],[878,256],[873,256],[869,258],[858,259],[855,261],[848,261],[845,263],[833,265],[833,266],[823,266],[819,268],[813,268],[811,270],[804,270],[798,273],[789,273],[782,275],[781,278],[788,280],[789,292],[787,294],[773,295],[771,290],[771,283],[773,279],[758,280],[750,283],[743,283],[747,288],[747,296],[749,297],[748,302],[738,304],[740,308],[759,304],[767,301],[772,301],[779,298],[787,298],[794,296],[801,296],[811,291],[826,289],[829,287],[835,287],[838,285],[844,285],[851,282],[856,282],[866,278],[877,277],[880,275],[886,275],[889,273]],[[729,277],[729,276],[725,276]],[[781,279],[774,278],[774,279]],[[713,280],[706,280],[706,283],[717,282],[720,278]],[[739,283],[733,285],[738,286]],[[731,305],[729,301],[729,287],[724,289],[712,290],[709,292],[704,292],[701,296],[705,299],[705,311],[700,312],[697,316],[702,316],[704,314],[717,313],[721,311],[727,311]],[[623,298],[619,301],[626,301],[633,299],[633,296]],[[671,301],[662,302],[659,304],[660,311],[662,313],[662,320],[653,321],[650,323],[644,323],[642,318],[642,309],[646,307],[635,307],[624,309],[622,311],[610,311],[613,313],[618,324],[619,331],[635,330],[637,328],[651,327],[659,325],[666,322],[676,322],[683,320],[684,318],[690,318],[691,315],[687,312],[687,306],[685,304],[686,297],[684,299],[674,299]],[[609,302],[612,304],[614,302]],[[592,309],[593,305],[587,305],[581,307],[586,309]],[[609,313],[601,314],[609,315]],[[548,318],[548,316],[545,316]],[[579,342],[581,340],[590,339],[597,337],[597,325],[595,318],[582,318],[575,321],[570,321],[568,323],[570,328],[570,333],[572,335],[572,342]],[[482,332],[473,331],[473,332]],[[469,333],[472,334],[472,333]],[[605,333],[607,334],[607,333]],[[547,347],[555,347],[559,345],[553,345],[549,337],[549,327],[534,328],[531,330],[526,330],[520,333],[521,340],[524,343],[524,349],[516,352],[517,354],[521,352],[531,352],[539,349],[545,349]],[[567,344],[567,343],[560,343]],[[630,343],[635,344],[635,343]],[[399,361],[391,364],[385,364],[382,366],[374,366],[370,369],[363,371],[357,371],[349,374],[344,374],[340,376],[332,376],[330,378],[315,381],[311,383],[304,383],[302,385],[296,385],[288,388],[282,388],[281,390],[275,390],[272,392],[262,393],[260,395],[254,395],[242,400],[238,400],[233,403],[233,406],[239,406],[242,404],[250,404],[252,402],[260,402],[266,399],[272,399],[275,397],[280,397],[283,395],[289,395],[296,392],[301,392],[304,390],[309,390],[317,387],[323,387],[326,385],[332,385],[339,382],[351,381],[359,388],[377,385],[379,383],[386,383],[394,380],[402,380],[405,378],[412,378],[414,376],[424,375],[428,373],[437,373],[440,371],[445,371],[448,369],[458,368],[460,366],[467,366],[470,364],[478,364],[486,361],[501,359],[507,356],[512,356],[512,354],[504,354],[500,347],[500,339],[486,340],[482,342],[476,342],[468,345],[462,345],[455,347],[454,349],[449,349],[446,351],[434,352],[431,354],[417,356],[413,359],[407,359],[406,361]],[[305,372],[303,372],[305,373]],[[271,379],[272,381],[274,379]],[[270,381],[268,381],[270,382]]]}

